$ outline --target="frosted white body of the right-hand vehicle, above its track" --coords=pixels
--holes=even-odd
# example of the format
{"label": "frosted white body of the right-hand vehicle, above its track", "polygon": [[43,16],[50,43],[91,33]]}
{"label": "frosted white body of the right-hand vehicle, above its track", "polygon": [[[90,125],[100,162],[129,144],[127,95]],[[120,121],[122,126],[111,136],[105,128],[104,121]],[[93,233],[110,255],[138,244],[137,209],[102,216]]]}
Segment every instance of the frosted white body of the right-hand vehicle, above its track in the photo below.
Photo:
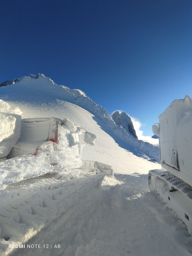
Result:
{"label": "frosted white body of the right-hand vehicle, above its track", "polygon": [[159,116],[159,143],[161,162],[179,170],[180,174],[172,172],[192,184],[192,101],[188,95],[173,101]]}

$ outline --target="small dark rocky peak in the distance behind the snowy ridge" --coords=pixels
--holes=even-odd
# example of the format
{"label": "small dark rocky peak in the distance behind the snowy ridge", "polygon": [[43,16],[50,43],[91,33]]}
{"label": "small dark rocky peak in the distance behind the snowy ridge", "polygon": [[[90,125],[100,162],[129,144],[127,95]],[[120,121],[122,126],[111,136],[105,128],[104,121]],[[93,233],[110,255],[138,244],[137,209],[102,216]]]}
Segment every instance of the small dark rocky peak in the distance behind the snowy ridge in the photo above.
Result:
{"label": "small dark rocky peak in the distance behind the snowy ridge", "polygon": [[119,113],[119,111],[115,111],[112,114],[112,119],[117,126],[126,129],[130,135],[133,135],[134,138],[138,139],[133,122],[131,121],[131,117],[129,117],[129,115],[127,115],[125,112]]}

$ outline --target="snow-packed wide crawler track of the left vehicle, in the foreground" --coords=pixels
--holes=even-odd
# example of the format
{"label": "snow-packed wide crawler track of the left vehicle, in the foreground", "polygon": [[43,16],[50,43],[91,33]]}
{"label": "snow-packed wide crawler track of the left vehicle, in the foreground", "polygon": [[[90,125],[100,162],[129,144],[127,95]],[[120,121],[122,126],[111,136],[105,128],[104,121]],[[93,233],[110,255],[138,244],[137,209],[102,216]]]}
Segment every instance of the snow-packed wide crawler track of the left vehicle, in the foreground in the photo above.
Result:
{"label": "snow-packed wide crawler track of the left vehicle, in the foreground", "polygon": [[14,251],[14,246],[11,245],[26,243],[61,216],[84,194],[98,186],[104,175],[88,175],[72,180],[62,180],[63,177],[62,174],[56,174],[52,178],[31,178],[1,190],[0,252],[2,256]]}

